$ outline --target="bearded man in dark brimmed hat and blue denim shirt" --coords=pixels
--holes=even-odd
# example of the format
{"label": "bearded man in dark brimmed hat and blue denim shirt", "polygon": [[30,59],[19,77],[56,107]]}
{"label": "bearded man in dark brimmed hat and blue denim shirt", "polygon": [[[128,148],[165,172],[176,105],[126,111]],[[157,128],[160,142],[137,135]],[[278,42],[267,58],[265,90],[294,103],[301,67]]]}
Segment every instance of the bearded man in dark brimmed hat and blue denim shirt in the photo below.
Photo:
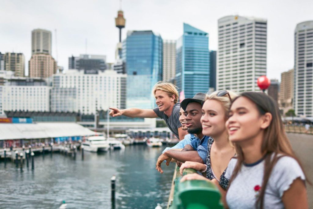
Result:
{"label": "bearded man in dark brimmed hat and blue denim shirt", "polygon": [[[187,144],[182,151],[168,150],[164,152],[156,162],[156,169],[163,173],[161,163],[166,160],[166,165],[173,159],[179,162],[194,161],[204,163],[208,150],[208,139],[210,137],[203,136],[200,118],[202,116],[202,105],[205,101],[206,94],[197,93],[193,98],[186,98],[181,102],[181,107],[185,110],[186,126],[188,133],[197,135],[195,140]],[[200,140],[201,139],[201,140]]]}

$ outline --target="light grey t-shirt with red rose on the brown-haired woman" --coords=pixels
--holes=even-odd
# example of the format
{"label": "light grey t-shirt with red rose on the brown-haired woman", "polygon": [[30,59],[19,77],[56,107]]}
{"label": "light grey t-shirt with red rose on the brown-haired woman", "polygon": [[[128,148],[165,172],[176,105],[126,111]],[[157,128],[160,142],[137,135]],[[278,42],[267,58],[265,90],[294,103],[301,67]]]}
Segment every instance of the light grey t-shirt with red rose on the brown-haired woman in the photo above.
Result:
{"label": "light grey t-shirt with red rose on the brown-haired woman", "polygon": [[[229,161],[225,177],[230,179],[235,168],[237,159]],[[258,199],[258,186],[262,185],[264,174],[264,162],[241,165],[237,176],[230,182],[226,195],[227,205],[232,208],[255,208],[255,201]],[[290,185],[297,178],[305,180],[305,175],[294,158],[283,156],[277,163],[269,177],[265,189],[264,208],[280,209],[285,208],[282,196]]]}

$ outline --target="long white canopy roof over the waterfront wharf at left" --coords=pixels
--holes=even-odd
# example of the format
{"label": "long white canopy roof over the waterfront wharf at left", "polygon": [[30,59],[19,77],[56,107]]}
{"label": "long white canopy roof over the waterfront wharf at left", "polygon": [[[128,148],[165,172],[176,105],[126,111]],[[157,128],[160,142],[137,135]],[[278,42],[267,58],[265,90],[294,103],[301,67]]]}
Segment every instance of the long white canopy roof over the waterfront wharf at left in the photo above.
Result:
{"label": "long white canopy roof over the waterfront wharf at left", "polygon": [[0,123],[0,140],[93,136],[77,123]]}

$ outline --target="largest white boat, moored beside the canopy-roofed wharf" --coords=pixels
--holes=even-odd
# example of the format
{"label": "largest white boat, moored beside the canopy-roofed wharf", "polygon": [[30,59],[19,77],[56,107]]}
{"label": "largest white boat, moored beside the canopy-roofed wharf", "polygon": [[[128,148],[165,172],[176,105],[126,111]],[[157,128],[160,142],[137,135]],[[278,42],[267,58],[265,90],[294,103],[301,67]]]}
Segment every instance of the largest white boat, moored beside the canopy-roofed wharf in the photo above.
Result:
{"label": "largest white boat, moored beside the canopy-roofed wharf", "polygon": [[107,152],[110,149],[110,144],[104,136],[90,136],[82,145],[84,150],[89,152]]}

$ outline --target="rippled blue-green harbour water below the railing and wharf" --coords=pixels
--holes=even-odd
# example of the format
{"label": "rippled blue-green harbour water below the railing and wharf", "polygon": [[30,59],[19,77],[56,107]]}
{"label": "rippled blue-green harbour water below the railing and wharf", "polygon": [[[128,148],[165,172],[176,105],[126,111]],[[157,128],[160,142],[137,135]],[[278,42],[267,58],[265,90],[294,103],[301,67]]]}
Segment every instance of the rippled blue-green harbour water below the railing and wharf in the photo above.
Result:
{"label": "rippled blue-green harbour water below the railing and wharf", "polygon": [[[107,153],[35,156],[35,170],[0,163],[0,208],[111,208],[110,178],[116,175],[115,208],[166,208],[174,164],[155,170],[165,148],[127,146]],[[163,167],[166,165],[164,164]]]}

